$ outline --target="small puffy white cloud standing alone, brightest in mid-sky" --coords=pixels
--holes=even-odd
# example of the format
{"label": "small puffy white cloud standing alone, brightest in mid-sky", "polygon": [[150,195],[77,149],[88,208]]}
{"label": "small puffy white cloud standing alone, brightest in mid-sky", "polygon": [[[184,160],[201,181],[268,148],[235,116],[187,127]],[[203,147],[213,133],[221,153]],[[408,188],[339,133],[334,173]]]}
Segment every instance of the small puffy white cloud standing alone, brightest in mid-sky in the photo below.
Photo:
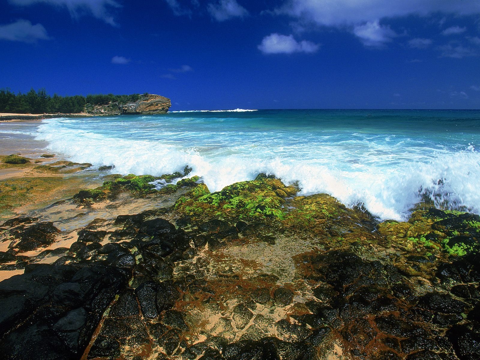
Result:
{"label": "small puffy white cloud standing alone, brightest in mid-sky", "polygon": [[317,51],[320,46],[307,40],[297,42],[293,35],[270,34],[264,37],[258,48],[264,54],[291,54],[294,52],[312,53]]}

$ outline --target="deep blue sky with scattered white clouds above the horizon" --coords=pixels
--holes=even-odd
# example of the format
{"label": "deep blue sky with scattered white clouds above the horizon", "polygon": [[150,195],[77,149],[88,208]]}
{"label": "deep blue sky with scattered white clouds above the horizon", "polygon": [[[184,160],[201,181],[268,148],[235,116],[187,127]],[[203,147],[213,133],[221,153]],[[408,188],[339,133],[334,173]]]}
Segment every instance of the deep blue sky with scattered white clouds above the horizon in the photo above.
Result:
{"label": "deep blue sky with scattered white clouds above the horizon", "polygon": [[0,88],[480,108],[479,0],[0,0]]}

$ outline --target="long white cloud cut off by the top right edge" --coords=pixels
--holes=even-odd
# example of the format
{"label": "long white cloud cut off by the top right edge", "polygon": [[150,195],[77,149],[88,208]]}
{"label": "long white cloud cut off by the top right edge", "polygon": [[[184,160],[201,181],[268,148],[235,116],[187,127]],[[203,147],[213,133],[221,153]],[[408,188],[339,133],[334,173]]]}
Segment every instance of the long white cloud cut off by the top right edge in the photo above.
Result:
{"label": "long white cloud cut off by the top right edge", "polygon": [[436,12],[458,15],[480,13],[478,0],[288,0],[276,10],[326,26],[358,25],[376,19]]}

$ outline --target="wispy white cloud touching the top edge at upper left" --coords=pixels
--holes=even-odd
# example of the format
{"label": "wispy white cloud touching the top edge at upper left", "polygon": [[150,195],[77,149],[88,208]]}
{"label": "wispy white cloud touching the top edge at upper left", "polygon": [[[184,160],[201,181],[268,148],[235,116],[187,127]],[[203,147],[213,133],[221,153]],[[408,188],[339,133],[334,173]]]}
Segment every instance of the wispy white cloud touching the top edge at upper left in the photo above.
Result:
{"label": "wispy white cloud touching the top edge at upper left", "polygon": [[8,0],[13,5],[28,6],[36,3],[46,3],[53,6],[65,7],[72,17],[80,17],[85,13],[115,26],[112,10],[121,5],[115,0]]}

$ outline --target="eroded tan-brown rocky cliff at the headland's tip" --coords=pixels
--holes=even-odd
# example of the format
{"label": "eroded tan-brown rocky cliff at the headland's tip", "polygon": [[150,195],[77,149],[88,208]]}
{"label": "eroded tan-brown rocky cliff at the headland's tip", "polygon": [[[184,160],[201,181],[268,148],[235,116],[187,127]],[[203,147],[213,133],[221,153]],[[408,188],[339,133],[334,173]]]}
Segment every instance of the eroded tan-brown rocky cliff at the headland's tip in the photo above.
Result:
{"label": "eroded tan-brown rocky cliff at the headland's tip", "polygon": [[123,114],[165,114],[170,108],[171,102],[168,97],[146,94],[135,102],[119,104],[111,102],[107,105],[85,106],[85,112],[93,115],[123,115]]}

